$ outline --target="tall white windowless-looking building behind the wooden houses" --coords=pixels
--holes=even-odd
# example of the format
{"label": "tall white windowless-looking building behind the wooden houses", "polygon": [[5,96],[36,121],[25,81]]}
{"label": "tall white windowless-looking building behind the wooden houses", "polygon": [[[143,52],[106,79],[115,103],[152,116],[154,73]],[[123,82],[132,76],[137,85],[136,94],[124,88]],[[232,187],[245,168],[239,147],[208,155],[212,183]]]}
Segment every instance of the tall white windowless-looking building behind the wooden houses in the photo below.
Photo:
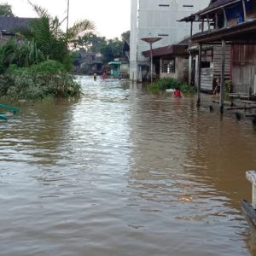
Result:
{"label": "tall white windowless-looking building behind the wooden houses", "polygon": [[[143,81],[148,74],[148,59],[142,52],[149,44],[141,38],[162,38],[159,48],[175,44],[190,35],[190,24],[178,22],[208,6],[210,0],[131,0],[130,79]],[[196,27],[197,26],[197,27]],[[195,24],[193,32],[199,27]]]}

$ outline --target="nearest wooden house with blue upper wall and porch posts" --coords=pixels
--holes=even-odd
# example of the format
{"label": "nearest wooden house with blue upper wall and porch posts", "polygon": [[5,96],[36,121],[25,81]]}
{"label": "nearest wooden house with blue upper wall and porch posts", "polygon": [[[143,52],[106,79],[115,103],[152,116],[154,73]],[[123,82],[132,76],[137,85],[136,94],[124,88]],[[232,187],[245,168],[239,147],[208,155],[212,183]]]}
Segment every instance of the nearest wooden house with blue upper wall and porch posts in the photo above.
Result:
{"label": "nearest wooden house with blue upper wall and porch posts", "polygon": [[[200,34],[191,34],[190,43],[198,44],[198,87],[201,90],[202,52],[204,45],[221,48],[221,108],[223,108],[226,60],[230,59],[230,80],[234,92],[256,92],[256,2],[255,0],[212,0],[210,5],[183,21],[200,22]],[[204,30],[207,24],[207,30]],[[192,30],[192,29],[191,29]],[[230,55],[226,46],[230,45]],[[200,95],[198,102],[200,102]]]}

